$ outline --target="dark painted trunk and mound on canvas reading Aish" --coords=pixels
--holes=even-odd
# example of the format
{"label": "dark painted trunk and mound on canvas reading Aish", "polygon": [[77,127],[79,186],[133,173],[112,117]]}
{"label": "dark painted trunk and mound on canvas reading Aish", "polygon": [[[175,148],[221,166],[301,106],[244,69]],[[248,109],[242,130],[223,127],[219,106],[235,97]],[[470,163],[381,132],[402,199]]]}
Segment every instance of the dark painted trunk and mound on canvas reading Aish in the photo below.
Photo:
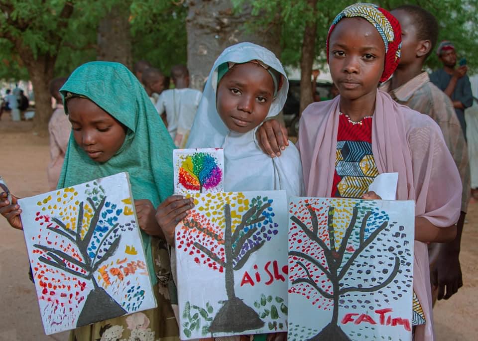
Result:
{"label": "dark painted trunk and mound on canvas reading Aish", "polygon": [[264,326],[259,315],[240,298],[236,297],[234,290],[234,267],[233,267],[233,246],[232,246],[232,220],[231,208],[228,204],[224,206],[226,228],[224,230],[225,250],[225,277],[226,293],[228,300],[219,309],[216,317],[211,323],[211,333],[240,333],[248,330],[258,329]]}

